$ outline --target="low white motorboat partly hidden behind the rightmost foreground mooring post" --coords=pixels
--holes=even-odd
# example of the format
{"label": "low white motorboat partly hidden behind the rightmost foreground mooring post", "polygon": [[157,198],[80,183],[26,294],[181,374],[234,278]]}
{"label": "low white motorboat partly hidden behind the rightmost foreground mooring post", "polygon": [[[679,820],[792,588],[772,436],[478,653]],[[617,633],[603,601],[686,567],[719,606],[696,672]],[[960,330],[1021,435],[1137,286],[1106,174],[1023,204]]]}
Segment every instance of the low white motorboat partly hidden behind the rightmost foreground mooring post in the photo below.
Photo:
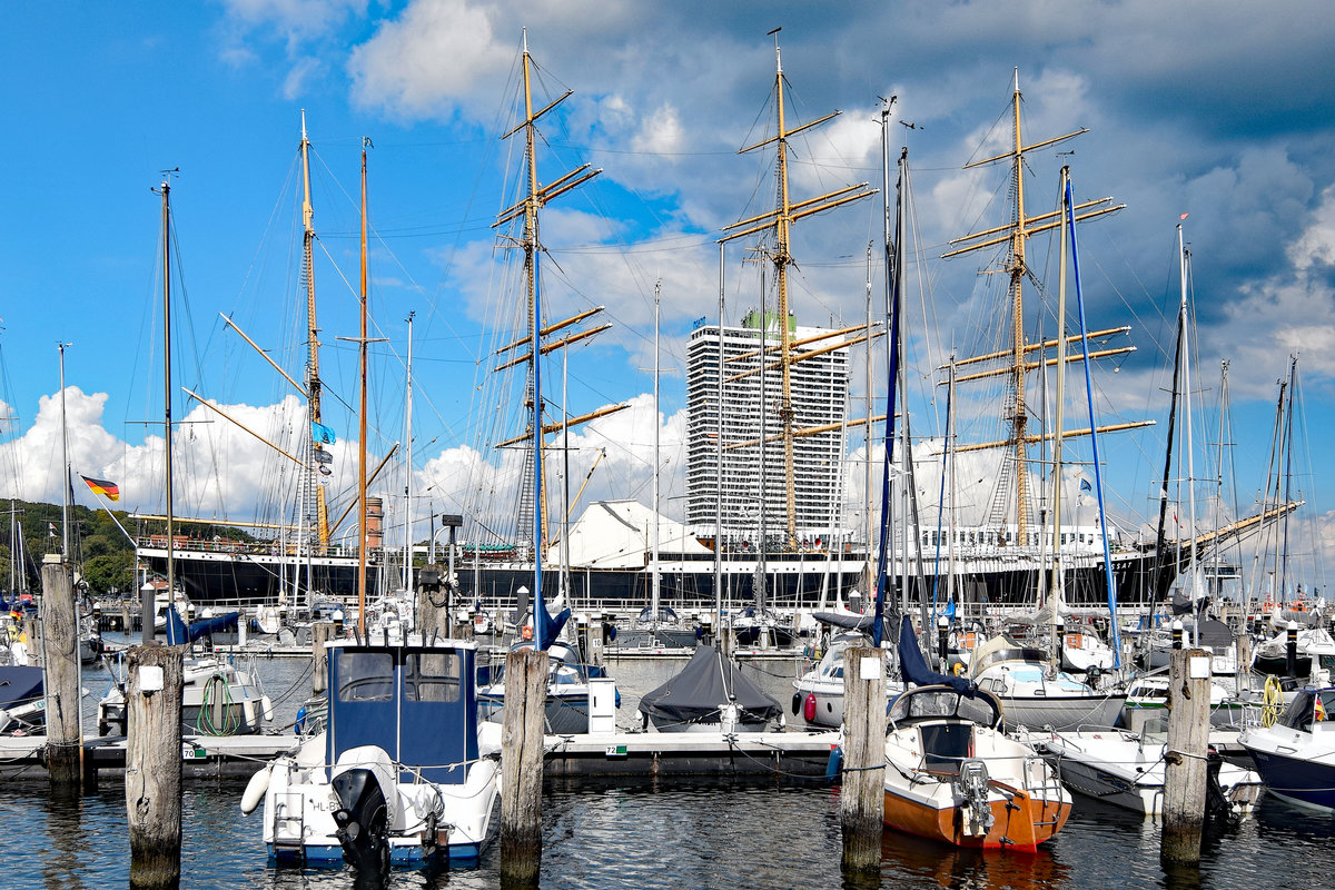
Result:
{"label": "low white motorboat partly hidden behind the rightmost foreground mooring post", "polygon": [[[1168,754],[1163,734],[1021,730],[1020,739],[1043,754],[1072,791],[1143,815],[1163,814]],[[1211,750],[1207,774],[1210,810],[1234,818],[1251,814],[1263,787],[1254,770]]]}

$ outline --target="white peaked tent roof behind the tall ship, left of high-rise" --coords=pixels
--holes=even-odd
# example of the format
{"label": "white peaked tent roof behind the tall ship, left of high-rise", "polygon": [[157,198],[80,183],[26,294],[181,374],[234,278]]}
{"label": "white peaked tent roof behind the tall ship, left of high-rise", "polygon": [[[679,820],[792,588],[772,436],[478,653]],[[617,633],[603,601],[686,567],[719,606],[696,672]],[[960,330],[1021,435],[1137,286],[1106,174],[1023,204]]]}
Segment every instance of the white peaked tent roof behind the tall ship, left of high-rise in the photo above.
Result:
{"label": "white peaked tent roof behind the tall ship, left of high-rise", "polygon": [[[570,564],[577,568],[639,568],[649,563],[654,511],[638,500],[595,500],[570,526]],[[713,552],[686,531],[686,526],[658,518],[658,555]],[[549,564],[561,558],[561,544],[547,552]]]}

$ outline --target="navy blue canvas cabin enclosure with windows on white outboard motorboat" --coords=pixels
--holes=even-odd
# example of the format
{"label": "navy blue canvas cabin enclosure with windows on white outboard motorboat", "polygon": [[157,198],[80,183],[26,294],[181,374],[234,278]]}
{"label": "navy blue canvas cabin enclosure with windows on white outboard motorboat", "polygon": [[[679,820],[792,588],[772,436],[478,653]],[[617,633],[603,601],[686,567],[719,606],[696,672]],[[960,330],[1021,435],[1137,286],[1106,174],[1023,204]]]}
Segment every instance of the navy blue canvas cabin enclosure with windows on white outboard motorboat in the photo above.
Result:
{"label": "navy blue canvas cabin enclosure with windows on white outboard motorboat", "polygon": [[410,640],[327,646],[327,762],[375,745],[402,765],[405,781],[462,785],[467,770],[458,765],[478,758],[477,644]]}

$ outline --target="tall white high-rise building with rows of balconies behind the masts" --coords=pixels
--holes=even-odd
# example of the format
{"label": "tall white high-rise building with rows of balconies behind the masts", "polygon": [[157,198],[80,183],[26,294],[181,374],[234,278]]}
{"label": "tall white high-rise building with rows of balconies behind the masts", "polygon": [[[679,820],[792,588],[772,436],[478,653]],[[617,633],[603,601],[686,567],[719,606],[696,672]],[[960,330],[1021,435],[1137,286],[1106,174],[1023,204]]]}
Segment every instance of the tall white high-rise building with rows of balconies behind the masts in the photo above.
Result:
{"label": "tall white high-rise building with rows of balconies behind the masts", "polygon": [[[788,318],[788,328],[794,343],[789,380],[797,535],[805,540],[828,540],[840,498],[848,347],[830,350],[838,342],[834,338],[813,340],[832,332],[797,327],[793,316]],[[741,326],[725,326],[721,338],[717,324],[698,324],[690,332],[686,343],[686,519],[700,532],[712,531],[716,516],[721,515],[725,535],[737,542],[758,546],[762,535],[770,546],[784,540],[788,494],[780,426],[780,336],[773,312],[749,312]]]}

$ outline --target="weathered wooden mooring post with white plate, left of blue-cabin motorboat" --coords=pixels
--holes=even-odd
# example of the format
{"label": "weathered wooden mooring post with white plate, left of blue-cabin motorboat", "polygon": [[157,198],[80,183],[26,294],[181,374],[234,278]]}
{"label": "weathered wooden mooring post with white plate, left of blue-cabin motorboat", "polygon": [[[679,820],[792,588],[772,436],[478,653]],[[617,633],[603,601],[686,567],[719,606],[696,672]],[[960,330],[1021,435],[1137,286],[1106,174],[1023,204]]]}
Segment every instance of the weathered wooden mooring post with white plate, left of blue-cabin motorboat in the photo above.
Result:
{"label": "weathered wooden mooring post with white plate, left of blue-cabin motorboat", "polygon": [[184,646],[138,646],[125,664],[129,886],[180,885],[180,689]]}

